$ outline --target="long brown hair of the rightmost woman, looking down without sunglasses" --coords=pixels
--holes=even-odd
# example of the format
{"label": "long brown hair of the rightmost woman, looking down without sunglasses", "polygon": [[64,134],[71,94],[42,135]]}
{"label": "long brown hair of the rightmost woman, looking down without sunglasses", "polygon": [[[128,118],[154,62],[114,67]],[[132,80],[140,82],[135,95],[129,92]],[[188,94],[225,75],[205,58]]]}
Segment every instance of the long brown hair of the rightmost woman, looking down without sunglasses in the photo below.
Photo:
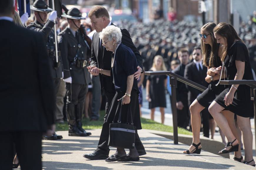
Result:
{"label": "long brown hair of the rightmost woman, looking down without sunglasses", "polygon": [[[220,59],[222,62],[224,62],[226,56],[227,56],[227,51],[230,49],[230,47],[233,45],[235,40],[240,40],[243,42],[243,40],[241,40],[241,38],[239,38],[239,36],[237,35],[237,32],[235,30],[235,28],[227,23],[219,23],[214,29],[213,29],[214,33],[217,33],[218,35],[220,35],[223,38],[227,39],[227,44],[225,46],[223,46],[222,49],[222,56],[220,56]],[[244,42],[243,42],[244,43]]]}

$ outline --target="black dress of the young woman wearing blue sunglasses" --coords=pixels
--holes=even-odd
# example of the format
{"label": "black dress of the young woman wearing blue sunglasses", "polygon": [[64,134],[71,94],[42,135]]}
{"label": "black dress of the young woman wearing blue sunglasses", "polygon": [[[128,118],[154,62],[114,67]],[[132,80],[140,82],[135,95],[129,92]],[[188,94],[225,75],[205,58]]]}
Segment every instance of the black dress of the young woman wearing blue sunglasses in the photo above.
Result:
{"label": "black dress of the young woman wearing blue sunglasses", "polygon": [[[210,59],[210,57],[209,57]],[[209,59],[207,60],[207,64],[209,64]],[[214,66],[213,67],[219,67],[221,66],[221,60],[220,57],[215,58],[214,60]],[[197,101],[200,105],[204,106],[205,108],[208,108],[212,101],[223,91],[225,90],[225,86],[222,84],[218,84],[218,86],[215,86],[218,81],[211,81],[208,88],[200,94],[200,96],[197,97]]]}

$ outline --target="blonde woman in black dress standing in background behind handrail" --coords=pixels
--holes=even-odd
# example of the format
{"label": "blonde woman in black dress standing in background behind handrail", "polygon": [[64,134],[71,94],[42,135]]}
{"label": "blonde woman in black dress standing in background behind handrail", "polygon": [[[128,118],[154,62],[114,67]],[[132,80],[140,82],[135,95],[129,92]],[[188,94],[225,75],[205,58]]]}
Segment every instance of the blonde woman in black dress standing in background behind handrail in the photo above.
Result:
{"label": "blonde woman in black dress standing in background behind handrail", "polygon": [[[167,71],[164,59],[157,55],[154,57],[153,65],[149,71]],[[160,108],[161,122],[164,124],[164,108],[166,108],[165,88],[167,85],[166,75],[154,75],[147,77],[146,84],[146,99],[149,101],[149,108],[151,109],[150,117],[154,120],[155,108]]]}

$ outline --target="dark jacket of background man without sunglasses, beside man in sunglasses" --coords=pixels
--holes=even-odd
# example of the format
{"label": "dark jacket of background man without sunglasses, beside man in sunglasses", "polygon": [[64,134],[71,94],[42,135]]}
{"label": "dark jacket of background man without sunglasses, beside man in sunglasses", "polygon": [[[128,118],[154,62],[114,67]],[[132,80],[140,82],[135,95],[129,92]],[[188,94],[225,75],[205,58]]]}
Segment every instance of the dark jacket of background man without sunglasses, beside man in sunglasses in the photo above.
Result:
{"label": "dark jacket of background man without sunglasses, beside man in sunglasses", "polygon": [[[178,74],[182,77],[184,77],[184,72],[185,72],[185,65],[183,64],[179,64],[179,66],[172,71],[175,74]],[[177,94],[176,94],[176,98],[177,98],[177,102],[181,101],[183,103],[183,105],[187,105],[188,101],[187,101],[187,87],[184,83],[177,81]]]}

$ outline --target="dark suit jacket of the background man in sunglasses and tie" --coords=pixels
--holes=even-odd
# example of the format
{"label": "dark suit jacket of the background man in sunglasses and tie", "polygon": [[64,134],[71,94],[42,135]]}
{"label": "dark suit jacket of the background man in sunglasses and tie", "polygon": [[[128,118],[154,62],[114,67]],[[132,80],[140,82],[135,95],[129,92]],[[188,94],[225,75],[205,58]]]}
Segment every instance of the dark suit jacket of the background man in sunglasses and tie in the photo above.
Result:
{"label": "dark suit jacket of the background man in sunglasses and tie", "polygon": [[[184,77],[186,79],[189,79],[191,81],[194,81],[197,84],[200,84],[202,86],[208,87],[208,83],[205,81],[205,77],[207,74],[207,67],[203,66],[203,70],[200,73],[199,70],[197,69],[197,66],[194,62],[191,62],[186,65],[185,67],[185,74]],[[189,90],[188,92],[188,100],[189,104],[191,104],[197,96],[202,93],[202,91],[195,89],[194,87],[187,86],[187,89]]]}

